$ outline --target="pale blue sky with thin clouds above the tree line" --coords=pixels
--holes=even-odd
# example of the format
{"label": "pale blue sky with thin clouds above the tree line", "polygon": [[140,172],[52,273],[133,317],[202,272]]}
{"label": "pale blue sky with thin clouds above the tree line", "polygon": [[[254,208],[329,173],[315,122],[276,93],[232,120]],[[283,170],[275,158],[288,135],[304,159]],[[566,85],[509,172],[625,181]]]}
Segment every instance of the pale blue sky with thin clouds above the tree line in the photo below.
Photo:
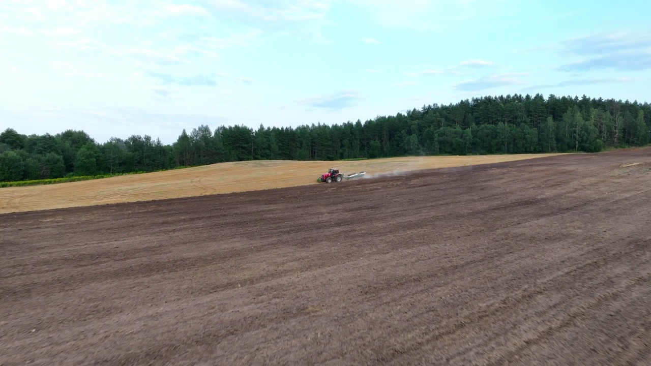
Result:
{"label": "pale blue sky with thin clouds above the tree line", "polygon": [[0,0],[0,130],[165,144],[473,97],[651,102],[651,1]]}

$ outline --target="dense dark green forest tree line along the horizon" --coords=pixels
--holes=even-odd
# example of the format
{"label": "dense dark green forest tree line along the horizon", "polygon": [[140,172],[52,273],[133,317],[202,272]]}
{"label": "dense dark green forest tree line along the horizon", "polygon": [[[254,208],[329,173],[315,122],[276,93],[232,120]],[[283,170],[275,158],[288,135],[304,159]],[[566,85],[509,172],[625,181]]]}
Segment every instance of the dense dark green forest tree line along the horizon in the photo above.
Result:
{"label": "dense dark green forest tree line along the horizon", "polygon": [[149,135],[97,143],[83,131],[0,134],[0,181],[156,171],[242,160],[340,160],[419,154],[598,152],[651,141],[651,106],[551,94],[485,96],[343,124],[201,125],[172,145]]}

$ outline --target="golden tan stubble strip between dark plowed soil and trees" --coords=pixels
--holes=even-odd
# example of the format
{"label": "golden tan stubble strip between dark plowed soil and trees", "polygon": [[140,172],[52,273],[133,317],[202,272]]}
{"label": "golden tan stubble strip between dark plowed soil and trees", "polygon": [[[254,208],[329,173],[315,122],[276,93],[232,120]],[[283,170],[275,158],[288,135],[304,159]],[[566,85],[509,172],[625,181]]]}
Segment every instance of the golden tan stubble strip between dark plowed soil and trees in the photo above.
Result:
{"label": "golden tan stubble strip between dark plowed soil and trees", "polygon": [[359,171],[366,171],[367,175],[380,175],[552,155],[555,154],[422,156],[343,162],[263,160],[217,163],[83,182],[0,188],[0,214],[305,186],[317,184],[316,178],[326,173],[329,167],[339,168],[344,175]]}

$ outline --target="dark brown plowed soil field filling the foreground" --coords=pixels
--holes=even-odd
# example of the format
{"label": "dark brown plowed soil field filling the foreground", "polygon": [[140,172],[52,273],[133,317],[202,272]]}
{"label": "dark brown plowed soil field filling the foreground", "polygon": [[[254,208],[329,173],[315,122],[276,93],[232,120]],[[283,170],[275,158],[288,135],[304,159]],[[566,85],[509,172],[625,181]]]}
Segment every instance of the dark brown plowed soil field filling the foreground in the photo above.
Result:
{"label": "dark brown plowed soil field filling the foreground", "polygon": [[2,215],[25,363],[650,365],[651,150]]}

